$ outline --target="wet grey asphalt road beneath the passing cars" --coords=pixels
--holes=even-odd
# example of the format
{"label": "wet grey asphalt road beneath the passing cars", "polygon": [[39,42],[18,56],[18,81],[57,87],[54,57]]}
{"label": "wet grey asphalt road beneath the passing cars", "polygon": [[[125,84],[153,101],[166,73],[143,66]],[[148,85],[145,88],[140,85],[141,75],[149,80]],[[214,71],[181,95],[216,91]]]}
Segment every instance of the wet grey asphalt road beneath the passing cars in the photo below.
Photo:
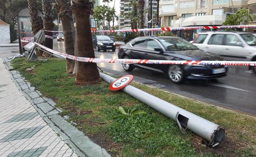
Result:
{"label": "wet grey asphalt road beneath the passing cars", "polygon": [[[64,42],[54,40],[54,50],[64,52]],[[95,55],[97,58],[114,59],[117,58],[117,51],[95,52]],[[114,75],[131,74],[135,82],[256,117],[256,75],[251,71],[230,68],[226,77],[217,80],[174,84],[165,74],[137,68],[126,72],[121,64],[115,63],[99,63],[98,66]]]}

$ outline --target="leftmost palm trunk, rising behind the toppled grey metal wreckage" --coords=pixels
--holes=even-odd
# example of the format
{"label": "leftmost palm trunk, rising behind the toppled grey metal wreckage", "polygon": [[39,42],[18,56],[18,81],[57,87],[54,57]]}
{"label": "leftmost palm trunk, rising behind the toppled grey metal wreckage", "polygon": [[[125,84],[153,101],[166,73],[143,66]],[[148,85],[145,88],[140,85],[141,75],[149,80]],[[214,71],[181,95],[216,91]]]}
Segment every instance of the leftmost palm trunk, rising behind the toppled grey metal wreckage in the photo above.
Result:
{"label": "leftmost palm trunk, rising behind the toppled grey metal wreckage", "polygon": [[[32,24],[33,34],[36,35],[38,31],[42,29],[41,19],[37,11],[37,0],[27,0],[28,9],[30,12],[30,21]],[[37,56],[42,56],[43,51],[36,51]]]}

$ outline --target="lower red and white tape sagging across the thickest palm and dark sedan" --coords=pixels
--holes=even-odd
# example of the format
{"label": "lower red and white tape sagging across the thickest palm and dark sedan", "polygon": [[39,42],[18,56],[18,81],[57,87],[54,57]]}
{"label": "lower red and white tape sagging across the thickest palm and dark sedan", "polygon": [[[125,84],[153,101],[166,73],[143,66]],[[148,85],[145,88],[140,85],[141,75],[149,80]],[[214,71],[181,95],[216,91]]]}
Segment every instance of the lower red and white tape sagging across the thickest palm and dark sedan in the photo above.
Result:
{"label": "lower red and white tape sagging across the thickest palm and dark sedan", "polygon": [[[35,43],[35,42],[34,42]],[[77,57],[73,55],[68,55],[66,53],[61,53],[49,49],[46,46],[35,43],[41,49],[44,49],[55,55],[59,55],[64,58],[69,58],[71,60],[76,60],[80,62],[90,62],[90,63],[127,63],[127,64],[183,64],[183,65],[239,65],[239,66],[256,66],[256,62],[244,62],[244,61],[192,61],[192,60],[131,60],[131,59],[100,59],[100,58],[88,58],[88,57]]]}

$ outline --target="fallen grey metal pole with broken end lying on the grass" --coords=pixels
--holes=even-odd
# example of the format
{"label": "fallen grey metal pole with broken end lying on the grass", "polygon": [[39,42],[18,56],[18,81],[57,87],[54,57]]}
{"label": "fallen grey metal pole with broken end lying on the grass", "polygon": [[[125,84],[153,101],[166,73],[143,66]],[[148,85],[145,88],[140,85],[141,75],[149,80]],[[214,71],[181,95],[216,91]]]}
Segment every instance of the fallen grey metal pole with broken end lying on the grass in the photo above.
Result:
{"label": "fallen grey metal pole with broken end lying on the grass", "polygon": [[[116,80],[104,73],[100,73],[100,76],[108,83]],[[123,88],[122,91],[135,97],[141,102],[144,102],[167,117],[174,119],[182,133],[185,133],[185,130],[188,128],[197,135],[208,140],[208,146],[217,146],[217,144],[219,144],[225,137],[225,130],[223,127],[175,106],[174,104],[166,102],[165,100],[130,85]]]}

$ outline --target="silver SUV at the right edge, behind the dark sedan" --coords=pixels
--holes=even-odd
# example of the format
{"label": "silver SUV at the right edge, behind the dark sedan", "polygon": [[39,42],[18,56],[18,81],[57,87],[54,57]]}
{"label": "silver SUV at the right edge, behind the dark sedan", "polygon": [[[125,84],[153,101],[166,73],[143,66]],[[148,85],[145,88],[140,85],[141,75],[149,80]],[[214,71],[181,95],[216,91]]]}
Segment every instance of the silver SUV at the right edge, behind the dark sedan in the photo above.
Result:
{"label": "silver SUV at the right edge, behind the dark sedan", "polygon": [[[256,61],[256,36],[245,32],[211,31],[198,33],[193,44],[229,61]],[[256,73],[256,66],[249,66]]]}

